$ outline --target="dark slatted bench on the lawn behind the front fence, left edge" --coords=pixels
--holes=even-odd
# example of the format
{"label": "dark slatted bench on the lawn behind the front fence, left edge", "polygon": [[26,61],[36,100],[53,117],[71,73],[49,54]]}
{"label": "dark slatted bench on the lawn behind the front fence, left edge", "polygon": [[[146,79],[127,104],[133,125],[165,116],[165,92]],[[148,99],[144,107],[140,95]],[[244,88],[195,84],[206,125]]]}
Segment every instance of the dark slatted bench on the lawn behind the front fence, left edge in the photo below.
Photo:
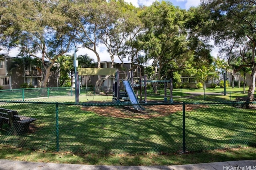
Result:
{"label": "dark slatted bench on the lawn behind the front fence, left edge", "polygon": [[35,118],[18,115],[16,110],[0,108],[0,128],[4,124],[8,124],[13,135],[22,135],[23,133],[30,133],[29,125]]}

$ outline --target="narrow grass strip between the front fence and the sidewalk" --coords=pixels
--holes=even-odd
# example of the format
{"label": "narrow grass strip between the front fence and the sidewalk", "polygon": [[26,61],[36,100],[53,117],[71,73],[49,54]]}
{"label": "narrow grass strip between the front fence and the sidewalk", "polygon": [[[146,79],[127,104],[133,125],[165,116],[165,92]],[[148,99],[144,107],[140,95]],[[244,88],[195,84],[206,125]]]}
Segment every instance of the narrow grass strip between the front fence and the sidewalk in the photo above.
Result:
{"label": "narrow grass strip between the front fence and the sidewalk", "polygon": [[0,145],[0,159],[21,160],[29,162],[52,162],[90,165],[180,165],[233,160],[253,160],[256,148],[236,148],[190,152],[186,154],[81,154],[79,152],[48,152],[46,150],[30,150],[10,145]]}

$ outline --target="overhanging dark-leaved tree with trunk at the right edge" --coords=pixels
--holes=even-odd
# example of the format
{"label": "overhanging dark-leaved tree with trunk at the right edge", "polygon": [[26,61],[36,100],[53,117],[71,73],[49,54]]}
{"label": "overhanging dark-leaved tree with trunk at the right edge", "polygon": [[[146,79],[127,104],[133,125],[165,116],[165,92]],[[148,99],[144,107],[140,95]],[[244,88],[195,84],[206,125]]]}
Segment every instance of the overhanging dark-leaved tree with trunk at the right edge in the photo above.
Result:
{"label": "overhanging dark-leaved tree with trunk at the right edge", "polygon": [[[210,16],[208,32],[216,44],[222,46],[222,54],[230,60],[232,53],[238,52],[237,57],[242,63],[237,68],[251,68],[248,97],[253,98],[256,79],[256,1],[255,0],[203,0],[205,13]],[[251,55],[246,55],[250,53]]]}

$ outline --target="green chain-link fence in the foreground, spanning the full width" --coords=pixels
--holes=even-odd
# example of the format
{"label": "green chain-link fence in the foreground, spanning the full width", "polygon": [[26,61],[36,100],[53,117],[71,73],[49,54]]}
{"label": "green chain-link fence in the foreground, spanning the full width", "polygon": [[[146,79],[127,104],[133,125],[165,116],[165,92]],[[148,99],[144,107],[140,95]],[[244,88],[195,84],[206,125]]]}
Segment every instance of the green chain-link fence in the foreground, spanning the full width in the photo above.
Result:
{"label": "green chain-link fence in the foreground, spanning the full width", "polygon": [[0,142],[93,153],[256,146],[256,102],[140,104],[0,101]]}

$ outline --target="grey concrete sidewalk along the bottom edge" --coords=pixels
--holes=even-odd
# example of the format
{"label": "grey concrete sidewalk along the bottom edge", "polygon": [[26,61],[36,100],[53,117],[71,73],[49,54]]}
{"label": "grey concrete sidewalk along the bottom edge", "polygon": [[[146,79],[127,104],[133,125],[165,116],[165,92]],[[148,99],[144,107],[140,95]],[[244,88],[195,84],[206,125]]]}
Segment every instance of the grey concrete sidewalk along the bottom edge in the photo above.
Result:
{"label": "grey concrete sidewalk along the bottom edge", "polygon": [[256,160],[170,166],[106,166],[0,160],[0,170],[256,170]]}

